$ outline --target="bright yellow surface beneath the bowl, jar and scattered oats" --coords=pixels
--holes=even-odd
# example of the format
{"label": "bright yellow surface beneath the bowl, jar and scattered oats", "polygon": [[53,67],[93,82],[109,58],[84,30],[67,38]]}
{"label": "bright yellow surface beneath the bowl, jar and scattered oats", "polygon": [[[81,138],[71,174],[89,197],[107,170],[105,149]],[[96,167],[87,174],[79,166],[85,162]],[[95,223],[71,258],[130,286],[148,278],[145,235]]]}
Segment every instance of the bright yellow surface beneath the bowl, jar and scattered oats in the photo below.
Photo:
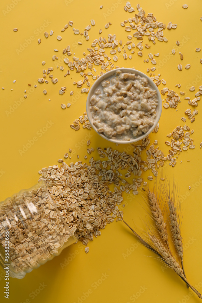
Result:
{"label": "bright yellow surface beneath the bowl, jar and scattered oats", "polygon": [[[121,4],[117,5],[117,3]],[[115,10],[114,4],[118,6]],[[69,127],[74,119],[85,111],[86,94],[78,95],[81,89],[77,89],[73,85],[73,81],[78,81],[80,75],[71,71],[71,75],[64,78],[67,66],[58,59],[58,65],[63,65],[65,68],[63,72],[60,71],[55,66],[57,62],[52,61],[52,56],[56,54],[61,58],[62,49],[71,45],[72,56],[75,52],[75,56],[82,58],[82,53],[86,51],[86,48],[90,47],[91,42],[99,37],[100,28],[102,28],[102,37],[107,38],[109,33],[116,34],[118,40],[122,39],[126,43],[127,35],[130,33],[124,31],[120,22],[129,17],[132,18],[134,13],[124,12],[124,4],[125,2],[121,0],[118,2],[117,0],[1,1],[0,83],[5,90],[0,89],[0,200],[4,200],[22,188],[34,185],[39,177],[38,170],[57,164],[58,158],[63,158],[70,147],[75,150],[71,161],[77,161],[77,154],[79,154],[80,160],[84,160],[86,144],[82,142],[88,140],[87,136],[90,136],[91,146],[95,149],[98,146],[116,148],[115,144],[109,144],[93,130],[88,131],[81,128],[75,132]],[[137,3],[131,4],[137,12]],[[176,91],[178,93],[184,91],[185,96],[194,98],[194,93],[189,92],[189,87],[194,85],[197,91],[199,85],[202,84],[202,65],[199,62],[202,52],[195,52],[196,47],[202,47],[202,22],[200,21],[202,4],[200,0],[189,1],[187,3],[189,7],[186,10],[182,8],[182,4],[184,4],[182,0],[142,0],[140,5],[146,14],[153,12],[157,21],[166,23],[166,25],[169,21],[177,23],[177,29],[164,31],[164,35],[168,39],[167,43],[159,41],[156,42],[156,45],[149,43],[151,48],[143,49],[142,58],[137,56],[135,48],[132,60],[124,60],[121,55],[117,65],[135,67],[146,73],[147,67],[151,68],[152,65],[144,63],[143,60],[147,58],[148,52],[153,54],[159,52],[160,56],[156,58],[157,65],[160,62],[164,63],[158,68],[156,74],[161,73],[161,78],[166,80],[166,86],[171,89],[175,90],[175,85],[180,83],[181,88],[176,88]],[[100,5],[103,5],[102,9],[99,9]],[[91,19],[94,19],[96,24],[89,31],[90,40],[88,42],[83,40],[83,45],[78,45],[78,39],[81,39],[81,36],[74,35],[71,27],[61,33],[61,29],[69,20],[74,21],[74,27],[82,32],[84,27],[90,24]],[[44,24],[45,21],[46,24]],[[111,22],[112,25],[105,29],[104,26],[107,22]],[[43,24],[48,25],[43,28]],[[18,28],[18,32],[13,32],[15,27]],[[41,30],[40,27],[42,27]],[[44,32],[49,33],[51,29],[54,31],[53,36],[46,39]],[[57,35],[62,36],[61,41],[56,39]],[[32,38],[30,38],[31,36]],[[38,45],[38,38],[41,38],[41,45]],[[16,50],[26,42],[25,39],[32,40],[28,40],[30,44],[22,52],[17,53]],[[178,48],[175,55],[170,56],[171,49],[173,47],[177,49],[176,40],[184,41],[183,45]],[[143,45],[147,42],[145,37]],[[134,39],[134,43],[137,43],[136,39]],[[54,48],[58,48],[59,52],[55,53]],[[182,62],[179,51],[184,55]],[[129,55],[129,51],[127,54]],[[46,61],[44,66],[41,65],[42,61]],[[183,65],[181,72],[177,70],[179,63]],[[185,70],[184,66],[188,63],[191,64],[191,68]],[[30,94],[34,82],[43,76],[42,69],[50,66],[54,67],[52,73],[54,78],[59,79],[58,83],[55,85],[50,81],[49,84],[37,83],[37,88]],[[97,70],[100,71],[99,68]],[[13,80],[16,80],[15,84]],[[28,87],[28,83],[31,84],[31,87]],[[67,91],[63,96],[58,94],[61,86],[67,86]],[[162,87],[161,84],[159,88]],[[29,94],[26,99],[24,99],[25,89]],[[43,89],[47,90],[47,95],[43,94]],[[71,90],[74,90],[73,96],[69,95]],[[78,100],[73,102],[75,100],[73,98],[78,98]],[[19,102],[19,100],[23,100],[23,102]],[[181,100],[182,102],[177,106],[177,112],[172,108],[163,108],[159,131],[157,134],[150,135],[151,143],[157,139],[165,154],[169,149],[164,144],[166,135],[177,125],[184,125],[180,118],[190,107],[183,97]],[[10,106],[13,108],[15,101],[20,105],[15,106],[15,110],[8,114],[6,111],[10,110]],[[67,104],[68,102],[72,103],[71,107],[62,110],[61,103]],[[181,203],[183,210],[182,235],[185,248],[184,266],[190,283],[202,292],[200,102],[197,108],[199,114],[196,116],[195,122],[191,124],[190,121],[187,121],[187,125],[194,129],[192,138],[196,148],[183,152],[174,168],[165,165],[161,173],[163,176],[167,175],[168,178],[175,177],[180,195],[184,197]],[[43,129],[48,121],[51,121],[52,125],[47,130],[45,128],[46,131],[42,134],[40,129]],[[23,145],[26,145],[28,140],[32,140],[33,137],[36,137],[37,140],[21,155],[19,150],[22,150]],[[82,139],[84,141],[81,141]],[[118,150],[123,151],[128,147],[129,145],[119,145]],[[94,157],[98,159],[96,152],[94,152]],[[180,160],[182,160],[181,164]],[[190,161],[187,162],[187,160]],[[143,176],[146,179],[148,175],[149,172],[144,173]],[[189,186],[192,187],[190,191]],[[134,226],[133,218],[144,217],[144,210],[140,205],[141,197],[131,195],[127,198],[127,195],[124,194],[124,200],[128,202],[124,209],[124,218]],[[88,246],[90,247],[88,254],[84,252],[84,246],[79,242],[66,248],[60,256],[55,257],[52,261],[27,274],[23,280],[10,278],[9,302],[131,303],[135,299],[131,296],[136,293],[135,301],[138,303],[171,301],[192,303],[199,300],[196,295],[192,295],[192,292],[192,297],[189,299],[190,289],[187,290],[184,282],[171,269],[161,268],[162,264],[154,258],[154,254],[139,245],[137,239],[122,222],[107,225],[105,230],[101,231],[101,237],[94,239]],[[130,250],[131,254],[126,257],[124,254],[129,254]],[[72,261],[66,266],[62,265],[64,267],[62,269],[60,264],[64,264],[65,258],[71,260],[71,257]],[[7,302],[3,293],[5,286],[3,271],[0,270],[0,273],[0,300]],[[40,286],[40,283],[43,287]],[[142,294],[138,297],[140,289]],[[88,290],[90,290],[90,294],[87,294]]]}

